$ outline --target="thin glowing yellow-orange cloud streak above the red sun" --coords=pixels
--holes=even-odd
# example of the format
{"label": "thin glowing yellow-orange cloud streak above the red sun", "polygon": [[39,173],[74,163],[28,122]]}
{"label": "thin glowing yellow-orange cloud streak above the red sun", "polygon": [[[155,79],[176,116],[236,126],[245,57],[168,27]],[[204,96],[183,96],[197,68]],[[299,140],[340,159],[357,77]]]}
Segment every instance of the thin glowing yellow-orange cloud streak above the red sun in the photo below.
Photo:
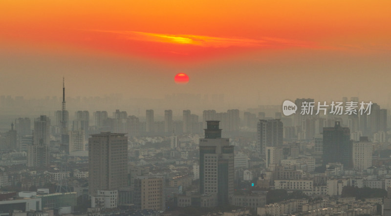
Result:
{"label": "thin glowing yellow-orange cloud streak above the red sun", "polygon": [[264,47],[264,46],[297,46],[297,47],[313,47],[312,43],[300,40],[270,38],[264,37],[261,39],[247,38],[224,38],[211,37],[201,35],[172,35],[172,34],[157,34],[148,32],[135,31],[107,31],[107,30],[88,30],[95,32],[112,33],[120,36],[123,39],[150,41],[160,43],[187,44],[201,47]]}

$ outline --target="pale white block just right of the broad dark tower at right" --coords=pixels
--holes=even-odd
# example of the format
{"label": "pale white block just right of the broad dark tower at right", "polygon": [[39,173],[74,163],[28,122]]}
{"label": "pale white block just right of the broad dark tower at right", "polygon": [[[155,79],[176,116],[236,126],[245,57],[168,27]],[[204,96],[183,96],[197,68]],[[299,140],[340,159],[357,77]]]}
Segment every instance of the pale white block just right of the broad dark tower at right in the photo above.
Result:
{"label": "pale white block just right of the broad dark tower at right", "polygon": [[372,143],[353,142],[353,169],[365,170],[372,166]]}

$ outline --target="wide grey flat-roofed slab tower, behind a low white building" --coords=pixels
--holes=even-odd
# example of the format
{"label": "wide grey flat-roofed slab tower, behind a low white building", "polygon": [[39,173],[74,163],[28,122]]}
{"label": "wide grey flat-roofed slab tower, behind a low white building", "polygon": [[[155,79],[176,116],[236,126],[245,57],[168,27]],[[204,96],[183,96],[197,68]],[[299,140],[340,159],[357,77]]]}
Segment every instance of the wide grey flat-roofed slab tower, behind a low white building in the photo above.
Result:
{"label": "wide grey flat-roofed slab tower, behind a low white building", "polygon": [[101,132],[88,139],[88,185],[91,196],[98,190],[127,186],[128,137]]}

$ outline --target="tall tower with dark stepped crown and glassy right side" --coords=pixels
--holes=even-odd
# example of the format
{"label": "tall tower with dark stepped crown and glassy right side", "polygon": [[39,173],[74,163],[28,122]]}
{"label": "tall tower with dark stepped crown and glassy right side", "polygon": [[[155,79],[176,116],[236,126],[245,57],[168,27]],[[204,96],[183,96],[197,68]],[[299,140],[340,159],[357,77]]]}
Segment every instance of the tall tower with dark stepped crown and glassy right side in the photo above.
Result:
{"label": "tall tower with dark stepped crown and glassy right side", "polygon": [[219,121],[207,121],[199,139],[200,194],[217,194],[218,204],[231,203],[234,194],[234,146],[221,138]]}

